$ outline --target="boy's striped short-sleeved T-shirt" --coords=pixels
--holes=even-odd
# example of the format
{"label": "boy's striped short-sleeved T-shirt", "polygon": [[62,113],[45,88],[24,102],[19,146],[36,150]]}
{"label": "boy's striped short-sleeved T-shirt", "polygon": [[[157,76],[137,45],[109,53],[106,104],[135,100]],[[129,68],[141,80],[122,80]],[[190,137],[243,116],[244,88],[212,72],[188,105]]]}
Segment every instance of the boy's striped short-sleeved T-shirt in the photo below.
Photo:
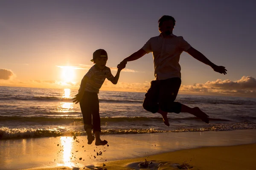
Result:
{"label": "boy's striped short-sleeved T-shirt", "polygon": [[93,65],[87,74],[85,74],[85,76],[89,78],[85,85],[85,91],[93,93],[99,93],[99,89],[101,88],[106,78],[109,81],[114,79],[110,68],[107,66],[105,66],[103,70],[100,70],[96,65]]}

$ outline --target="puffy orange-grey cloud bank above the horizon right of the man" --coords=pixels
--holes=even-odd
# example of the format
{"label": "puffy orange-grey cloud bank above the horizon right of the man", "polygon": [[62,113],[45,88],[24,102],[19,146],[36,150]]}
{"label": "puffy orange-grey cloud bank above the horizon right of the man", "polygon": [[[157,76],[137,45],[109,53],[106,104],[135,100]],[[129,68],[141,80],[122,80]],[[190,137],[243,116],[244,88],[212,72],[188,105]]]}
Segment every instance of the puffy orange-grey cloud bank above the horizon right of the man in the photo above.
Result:
{"label": "puffy orange-grey cloud bank above the horizon right of the man", "polygon": [[237,81],[217,79],[216,81],[208,81],[204,84],[181,85],[180,91],[209,95],[256,97],[256,79],[250,76],[243,76]]}

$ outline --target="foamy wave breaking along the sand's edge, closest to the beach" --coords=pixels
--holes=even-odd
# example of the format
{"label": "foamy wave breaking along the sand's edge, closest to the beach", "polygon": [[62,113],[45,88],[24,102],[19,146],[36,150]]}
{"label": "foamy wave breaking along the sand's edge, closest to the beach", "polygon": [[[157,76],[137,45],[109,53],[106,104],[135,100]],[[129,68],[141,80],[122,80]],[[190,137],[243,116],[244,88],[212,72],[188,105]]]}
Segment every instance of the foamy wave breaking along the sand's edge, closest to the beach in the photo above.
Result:
{"label": "foamy wave breaking along the sand's edge, closest to the beach", "polygon": [[[256,124],[253,123],[235,123],[222,124],[205,128],[181,128],[177,130],[157,130],[150,129],[107,129],[102,130],[101,134],[141,134],[141,133],[167,133],[167,132],[198,132],[198,131],[227,131],[227,130],[241,130],[241,129],[256,129]],[[28,129],[28,128],[14,128],[8,127],[0,128],[0,139],[26,139],[26,138],[40,138],[40,137],[57,137],[57,136],[86,136],[84,131],[74,131],[61,129]]]}

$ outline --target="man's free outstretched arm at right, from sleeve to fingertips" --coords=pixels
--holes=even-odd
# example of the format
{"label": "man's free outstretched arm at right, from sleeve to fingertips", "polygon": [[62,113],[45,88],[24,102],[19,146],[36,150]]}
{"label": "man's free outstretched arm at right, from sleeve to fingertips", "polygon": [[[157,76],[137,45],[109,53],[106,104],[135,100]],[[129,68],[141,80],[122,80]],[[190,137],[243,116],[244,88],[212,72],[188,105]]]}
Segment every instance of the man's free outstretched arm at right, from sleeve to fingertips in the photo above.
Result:
{"label": "man's free outstretched arm at right, from sleeve to fingertips", "polygon": [[190,54],[192,57],[194,57],[195,59],[197,59],[198,61],[203,62],[206,65],[211,66],[211,68],[220,73],[220,74],[227,74],[227,70],[225,69],[224,66],[218,66],[213,64],[209,59],[207,59],[204,54],[202,54],[201,52],[197,51],[195,48],[191,47],[186,51],[188,54]]}

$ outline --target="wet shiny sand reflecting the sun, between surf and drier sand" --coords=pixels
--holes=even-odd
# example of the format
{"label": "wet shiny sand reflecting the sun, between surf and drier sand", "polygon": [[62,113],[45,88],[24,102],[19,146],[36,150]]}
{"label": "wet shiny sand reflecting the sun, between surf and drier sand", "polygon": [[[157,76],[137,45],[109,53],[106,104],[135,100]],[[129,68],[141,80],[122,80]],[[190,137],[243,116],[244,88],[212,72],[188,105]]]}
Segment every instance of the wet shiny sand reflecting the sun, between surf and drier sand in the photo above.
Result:
{"label": "wet shiny sand reflecting the sun, between surf and drier sand", "polygon": [[88,145],[86,136],[0,141],[0,170],[46,167],[73,167],[79,170],[102,166],[103,163],[114,168],[111,162],[115,161],[142,161],[141,158],[182,150],[256,144],[256,130],[102,135],[102,139],[106,139],[109,146]]}

